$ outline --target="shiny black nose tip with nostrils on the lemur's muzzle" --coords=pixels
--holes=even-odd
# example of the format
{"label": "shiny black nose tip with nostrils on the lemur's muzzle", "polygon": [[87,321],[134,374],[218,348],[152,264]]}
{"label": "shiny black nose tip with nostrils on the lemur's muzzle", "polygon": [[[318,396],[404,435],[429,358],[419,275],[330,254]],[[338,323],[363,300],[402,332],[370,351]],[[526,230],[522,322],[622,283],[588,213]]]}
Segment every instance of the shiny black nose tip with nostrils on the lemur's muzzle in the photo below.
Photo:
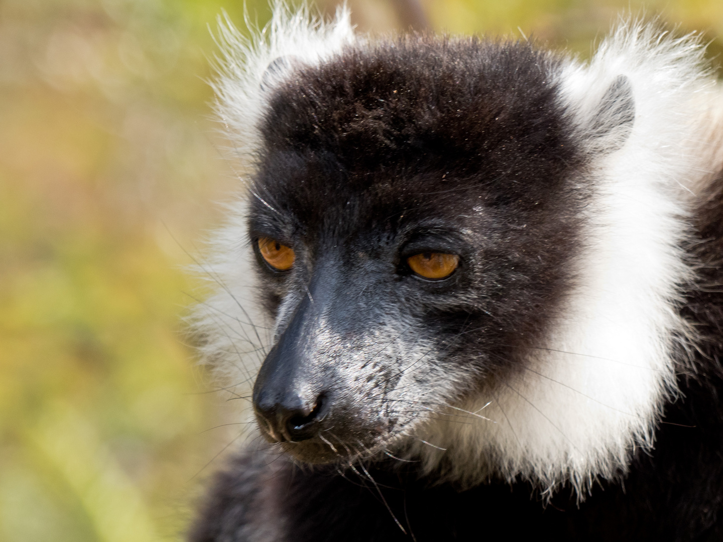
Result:
{"label": "shiny black nose tip with nostrils on the lemur's muzzle", "polygon": [[271,438],[278,442],[299,442],[317,434],[323,406],[321,395],[314,401],[304,401],[294,395],[281,402],[260,397],[254,408]]}

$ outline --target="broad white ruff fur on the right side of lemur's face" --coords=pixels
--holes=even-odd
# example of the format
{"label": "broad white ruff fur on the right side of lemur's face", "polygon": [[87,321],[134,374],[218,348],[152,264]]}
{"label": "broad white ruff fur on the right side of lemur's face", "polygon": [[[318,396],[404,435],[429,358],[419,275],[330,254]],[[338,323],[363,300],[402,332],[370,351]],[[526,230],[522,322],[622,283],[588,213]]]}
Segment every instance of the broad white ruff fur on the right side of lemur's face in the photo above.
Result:
{"label": "broad white ruff fur on the right side of lemur's face", "polygon": [[[690,187],[706,164],[706,96],[697,40],[622,25],[590,64],[571,61],[565,98],[584,132],[615,77],[633,87],[636,116],[625,145],[594,163],[596,194],[585,210],[585,248],[564,316],[514,382],[461,405],[497,423],[437,424],[427,439],[448,448],[448,476],[479,483],[491,473],[544,489],[624,473],[635,447],[654,445],[664,400],[675,396],[679,288],[690,283],[681,245]],[[612,137],[616,137],[615,134]],[[709,167],[706,167],[708,165]],[[420,447],[420,449],[423,449]],[[427,468],[438,452],[424,450]]]}

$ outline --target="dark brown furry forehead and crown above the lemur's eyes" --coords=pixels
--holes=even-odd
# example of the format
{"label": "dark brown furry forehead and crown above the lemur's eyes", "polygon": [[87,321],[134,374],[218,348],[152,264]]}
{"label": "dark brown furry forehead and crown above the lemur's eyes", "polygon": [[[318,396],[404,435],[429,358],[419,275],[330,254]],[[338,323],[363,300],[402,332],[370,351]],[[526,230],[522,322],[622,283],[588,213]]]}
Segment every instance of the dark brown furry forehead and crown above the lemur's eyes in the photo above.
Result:
{"label": "dark brown furry forehead and crown above the lemur's eyes", "polygon": [[580,161],[559,77],[560,61],[526,43],[407,36],[347,48],[274,91],[257,178],[312,206],[419,184],[435,199],[457,185],[492,200],[555,197]]}

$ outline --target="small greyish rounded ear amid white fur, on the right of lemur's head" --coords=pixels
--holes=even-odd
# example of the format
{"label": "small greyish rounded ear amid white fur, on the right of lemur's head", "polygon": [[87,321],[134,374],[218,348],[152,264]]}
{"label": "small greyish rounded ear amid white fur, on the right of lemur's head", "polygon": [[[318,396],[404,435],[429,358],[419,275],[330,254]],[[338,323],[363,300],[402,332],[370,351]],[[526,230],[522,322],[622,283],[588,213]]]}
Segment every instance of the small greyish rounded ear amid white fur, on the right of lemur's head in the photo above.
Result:
{"label": "small greyish rounded ear amid white fur, on the right of lemur's head", "polygon": [[635,100],[633,85],[618,75],[607,88],[590,120],[588,137],[594,150],[613,152],[625,145],[633,131]]}

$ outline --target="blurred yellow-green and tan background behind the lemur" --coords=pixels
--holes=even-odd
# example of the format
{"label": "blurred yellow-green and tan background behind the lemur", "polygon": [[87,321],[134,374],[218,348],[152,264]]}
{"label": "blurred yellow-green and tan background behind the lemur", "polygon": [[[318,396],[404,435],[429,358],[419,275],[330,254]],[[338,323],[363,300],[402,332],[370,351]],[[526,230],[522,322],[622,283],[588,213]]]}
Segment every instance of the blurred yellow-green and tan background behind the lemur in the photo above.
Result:
{"label": "blurred yellow-green and tan background behind the lemur", "polygon": [[[643,9],[349,4],[361,32],[526,35],[583,57]],[[240,0],[0,0],[0,542],[181,541],[239,434],[183,323],[203,296],[184,268],[238,189],[206,82],[222,9],[245,28]],[[719,64],[723,1],[644,9],[700,31]]]}

